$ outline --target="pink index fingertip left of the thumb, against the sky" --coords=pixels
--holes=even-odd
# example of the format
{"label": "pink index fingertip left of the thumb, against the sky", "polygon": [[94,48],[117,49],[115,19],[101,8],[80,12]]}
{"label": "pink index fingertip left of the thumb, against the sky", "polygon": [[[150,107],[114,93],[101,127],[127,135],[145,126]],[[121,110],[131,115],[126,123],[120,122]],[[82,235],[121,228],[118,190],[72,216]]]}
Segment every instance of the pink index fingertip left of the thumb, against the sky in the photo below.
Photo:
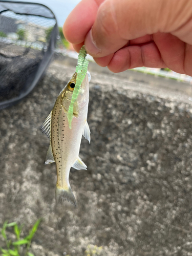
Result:
{"label": "pink index fingertip left of the thumb, against the sky", "polygon": [[92,28],[99,5],[104,0],[82,0],[69,14],[63,25],[63,34],[72,44],[80,44]]}

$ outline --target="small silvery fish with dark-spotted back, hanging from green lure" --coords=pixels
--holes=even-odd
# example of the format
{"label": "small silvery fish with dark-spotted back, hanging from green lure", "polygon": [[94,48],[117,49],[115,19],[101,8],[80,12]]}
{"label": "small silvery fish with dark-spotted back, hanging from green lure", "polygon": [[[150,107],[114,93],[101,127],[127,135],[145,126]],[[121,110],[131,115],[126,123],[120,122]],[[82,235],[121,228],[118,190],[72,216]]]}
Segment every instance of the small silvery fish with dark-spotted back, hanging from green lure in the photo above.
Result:
{"label": "small silvery fish with dark-spotted back, hanging from green lure", "polygon": [[89,72],[84,77],[78,96],[73,105],[73,119],[69,127],[68,111],[71,103],[77,73],[75,72],[57,97],[53,110],[40,126],[40,130],[50,139],[50,146],[45,164],[56,163],[57,183],[55,199],[60,204],[68,201],[76,206],[76,199],[69,183],[71,167],[87,169],[87,165],[79,157],[82,135],[89,143],[91,132],[87,122],[89,104]]}

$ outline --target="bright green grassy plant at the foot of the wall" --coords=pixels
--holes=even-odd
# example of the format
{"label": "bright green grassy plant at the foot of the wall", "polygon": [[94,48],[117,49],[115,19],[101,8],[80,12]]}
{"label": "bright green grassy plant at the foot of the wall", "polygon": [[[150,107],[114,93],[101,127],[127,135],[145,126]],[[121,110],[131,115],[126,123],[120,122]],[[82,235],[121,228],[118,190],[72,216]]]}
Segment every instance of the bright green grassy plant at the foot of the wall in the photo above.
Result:
{"label": "bright green grassy plant at the foot of the wall", "polygon": [[[20,227],[16,224],[16,222],[8,223],[7,221],[3,224],[1,233],[3,238],[5,239],[7,249],[3,249],[0,247],[2,251],[2,256],[20,256],[20,246],[23,246],[25,251],[23,255],[25,256],[34,256],[33,253],[29,252],[31,240],[33,239],[33,236],[35,232],[37,231],[37,228],[40,224],[40,219],[35,222],[31,230],[29,230],[28,236],[21,239],[20,233],[22,232],[22,228],[24,225],[21,225]],[[16,241],[8,240],[7,234],[6,234],[6,228],[7,227],[13,227],[14,233],[16,236]]]}

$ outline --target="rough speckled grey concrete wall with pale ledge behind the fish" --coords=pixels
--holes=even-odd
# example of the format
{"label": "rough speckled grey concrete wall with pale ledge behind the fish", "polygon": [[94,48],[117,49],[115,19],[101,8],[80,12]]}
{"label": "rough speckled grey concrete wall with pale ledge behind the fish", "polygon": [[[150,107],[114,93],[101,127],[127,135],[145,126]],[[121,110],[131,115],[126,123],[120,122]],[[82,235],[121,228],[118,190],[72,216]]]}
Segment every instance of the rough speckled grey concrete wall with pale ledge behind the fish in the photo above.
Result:
{"label": "rough speckled grey concrete wall with pale ledge behind the fish", "polygon": [[39,126],[74,70],[54,62],[33,93],[0,112],[0,224],[25,223],[26,233],[43,218],[36,256],[82,256],[88,245],[102,246],[101,256],[192,255],[192,109],[183,93],[92,71],[91,144],[83,138],[80,150],[88,170],[70,172],[77,207],[56,206],[56,167],[43,164],[49,140]]}

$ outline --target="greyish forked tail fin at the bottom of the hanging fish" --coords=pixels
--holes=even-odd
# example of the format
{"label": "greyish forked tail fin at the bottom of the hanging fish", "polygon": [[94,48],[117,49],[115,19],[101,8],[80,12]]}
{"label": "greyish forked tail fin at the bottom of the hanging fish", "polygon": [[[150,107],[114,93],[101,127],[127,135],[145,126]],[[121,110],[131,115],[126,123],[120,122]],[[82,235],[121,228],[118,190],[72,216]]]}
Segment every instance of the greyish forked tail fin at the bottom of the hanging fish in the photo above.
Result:
{"label": "greyish forked tail fin at the bottom of the hanging fish", "polygon": [[62,203],[62,201],[68,200],[68,202],[70,202],[74,206],[77,205],[77,202],[75,200],[75,197],[73,195],[73,192],[70,186],[67,189],[56,186],[55,197],[56,197],[57,204]]}

